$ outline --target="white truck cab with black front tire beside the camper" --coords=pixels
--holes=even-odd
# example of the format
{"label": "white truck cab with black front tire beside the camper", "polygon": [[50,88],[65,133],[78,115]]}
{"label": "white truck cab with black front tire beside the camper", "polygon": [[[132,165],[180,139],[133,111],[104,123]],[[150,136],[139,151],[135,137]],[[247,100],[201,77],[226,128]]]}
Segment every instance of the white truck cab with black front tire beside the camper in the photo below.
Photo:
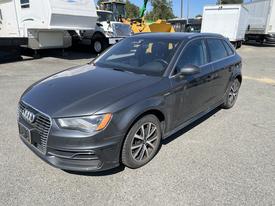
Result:
{"label": "white truck cab with black front tire beside the camper", "polygon": [[95,29],[80,31],[81,43],[91,45],[95,53],[132,34],[130,26],[117,21],[113,12],[97,10],[97,15]]}

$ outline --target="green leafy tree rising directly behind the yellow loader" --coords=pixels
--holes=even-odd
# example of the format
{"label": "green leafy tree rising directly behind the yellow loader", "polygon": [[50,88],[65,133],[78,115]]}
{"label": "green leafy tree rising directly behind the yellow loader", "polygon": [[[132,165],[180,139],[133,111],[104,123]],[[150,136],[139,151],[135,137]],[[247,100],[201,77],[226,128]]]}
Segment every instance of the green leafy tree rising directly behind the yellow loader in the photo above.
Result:
{"label": "green leafy tree rising directly behind the yellow loader", "polygon": [[151,4],[153,9],[146,13],[146,19],[156,21],[158,19],[167,20],[175,18],[171,0],[151,0]]}

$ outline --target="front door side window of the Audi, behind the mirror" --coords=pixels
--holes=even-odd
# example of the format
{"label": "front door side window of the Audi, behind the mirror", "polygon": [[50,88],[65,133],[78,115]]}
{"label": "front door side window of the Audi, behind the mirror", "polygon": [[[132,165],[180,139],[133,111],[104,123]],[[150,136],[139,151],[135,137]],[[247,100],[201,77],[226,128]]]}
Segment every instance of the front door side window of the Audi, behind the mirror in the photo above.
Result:
{"label": "front door side window of the Audi, behind the mirror", "polygon": [[188,44],[181,54],[175,73],[186,66],[202,66],[207,63],[206,46],[204,40],[195,40]]}

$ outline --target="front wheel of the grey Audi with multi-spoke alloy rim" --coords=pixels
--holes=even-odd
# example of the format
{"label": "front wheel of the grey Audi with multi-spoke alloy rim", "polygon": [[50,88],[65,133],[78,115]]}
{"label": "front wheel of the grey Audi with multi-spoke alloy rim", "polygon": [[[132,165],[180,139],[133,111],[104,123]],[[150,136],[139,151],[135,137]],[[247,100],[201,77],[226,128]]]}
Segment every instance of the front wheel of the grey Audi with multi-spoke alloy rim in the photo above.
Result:
{"label": "front wheel of the grey Audi with multi-spoke alloy rim", "polygon": [[[148,133],[149,128],[150,133]],[[132,169],[146,165],[159,150],[161,134],[160,122],[156,116],[147,115],[138,120],[124,141],[121,152],[122,163]]]}

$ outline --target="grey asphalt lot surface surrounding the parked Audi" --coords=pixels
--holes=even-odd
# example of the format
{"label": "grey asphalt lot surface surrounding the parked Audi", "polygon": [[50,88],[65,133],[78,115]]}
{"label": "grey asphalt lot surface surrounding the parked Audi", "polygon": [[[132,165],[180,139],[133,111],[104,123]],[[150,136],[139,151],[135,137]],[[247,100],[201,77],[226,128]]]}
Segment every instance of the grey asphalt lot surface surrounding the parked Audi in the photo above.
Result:
{"label": "grey asphalt lot surface surrounding the parked Audi", "polygon": [[91,55],[0,65],[0,205],[275,205],[275,47],[243,46],[236,106],[166,141],[143,168],[69,173],[20,141],[17,102],[33,82]]}

